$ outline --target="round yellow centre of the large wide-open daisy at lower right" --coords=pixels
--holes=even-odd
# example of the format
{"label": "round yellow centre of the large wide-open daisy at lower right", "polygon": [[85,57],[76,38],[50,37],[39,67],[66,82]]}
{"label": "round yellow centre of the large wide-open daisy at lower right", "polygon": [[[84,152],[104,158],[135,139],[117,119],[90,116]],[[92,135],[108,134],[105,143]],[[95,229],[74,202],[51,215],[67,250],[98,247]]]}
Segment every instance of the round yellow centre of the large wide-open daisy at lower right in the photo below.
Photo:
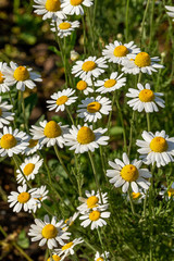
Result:
{"label": "round yellow centre of the large wide-open daisy at lower right", "polygon": [[135,165],[128,164],[123,166],[121,176],[126,182],[135,182],[139,176],[139,172]]}

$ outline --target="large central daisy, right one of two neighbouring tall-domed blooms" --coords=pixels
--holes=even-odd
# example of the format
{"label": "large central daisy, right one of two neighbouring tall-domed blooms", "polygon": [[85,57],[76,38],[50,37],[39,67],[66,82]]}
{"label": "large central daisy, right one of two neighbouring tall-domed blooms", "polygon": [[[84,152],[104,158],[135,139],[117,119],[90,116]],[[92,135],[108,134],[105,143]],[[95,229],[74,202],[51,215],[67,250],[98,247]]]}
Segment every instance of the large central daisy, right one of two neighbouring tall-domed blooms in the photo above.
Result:
{"label": "large central daisy, right one of two neighbouring tall-domed blooms", "polygon": [[84,153],[86,151],[95,151],[99,145],[108,145],[109,137],[102,136],[107,128],[92,129],[92,126],[85,124],[72,126],[70,134],[65,134],[64,138],[66,146],[71,146],[70,150],[75,150],[75,153]]}

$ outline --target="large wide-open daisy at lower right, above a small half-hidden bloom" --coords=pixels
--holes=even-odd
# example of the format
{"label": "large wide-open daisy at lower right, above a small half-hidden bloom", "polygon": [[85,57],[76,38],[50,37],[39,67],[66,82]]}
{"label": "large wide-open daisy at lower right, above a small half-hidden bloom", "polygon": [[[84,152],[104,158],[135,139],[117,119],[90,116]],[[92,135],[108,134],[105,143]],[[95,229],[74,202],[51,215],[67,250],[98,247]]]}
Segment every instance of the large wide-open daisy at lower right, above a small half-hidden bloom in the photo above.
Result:
{"label": "large wide-open daisy at lower right, above a small half-hidden bloom", "polygon": [[151,177],[148,169],[140,169],[142,161],[134,160],[129,162],[126,153],[123,153],[123,161],[115,159],[114,162],[109,161],[109,165],[114,170],[108,170],[107,176],[111,177],[110,183],[121,187],[122,191],[126,192],[130,186],[134,192],[138,192],[138,186],[148,189],[150,183],[145,179]]}

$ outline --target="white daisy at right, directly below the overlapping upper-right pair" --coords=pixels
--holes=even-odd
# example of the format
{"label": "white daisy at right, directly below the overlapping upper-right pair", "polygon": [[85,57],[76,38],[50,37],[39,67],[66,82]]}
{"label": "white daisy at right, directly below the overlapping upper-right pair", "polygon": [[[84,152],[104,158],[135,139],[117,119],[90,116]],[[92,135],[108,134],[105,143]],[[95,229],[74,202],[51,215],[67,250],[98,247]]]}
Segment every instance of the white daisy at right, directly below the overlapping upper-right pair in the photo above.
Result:
{"label": "white daisy at right, directly below the overlapping upper-right pair", "polygon": [[150,89],[150,85],[146,84],[145,88],[141,84],[137,84],[138,90],[137,89],[133,89],[129,88],[128,91],[126,94],[127,97],[133,98],[132,100],[129,100],[127,102],[127,104],[129,107],[133,107],[134,111],[146,111],[147,113],[149,112],[158,112],[159,109],[157,105],[164,108],[164,100],[162,100],[161,96],[163,96],[163,94],[161,92],[153,92]]}

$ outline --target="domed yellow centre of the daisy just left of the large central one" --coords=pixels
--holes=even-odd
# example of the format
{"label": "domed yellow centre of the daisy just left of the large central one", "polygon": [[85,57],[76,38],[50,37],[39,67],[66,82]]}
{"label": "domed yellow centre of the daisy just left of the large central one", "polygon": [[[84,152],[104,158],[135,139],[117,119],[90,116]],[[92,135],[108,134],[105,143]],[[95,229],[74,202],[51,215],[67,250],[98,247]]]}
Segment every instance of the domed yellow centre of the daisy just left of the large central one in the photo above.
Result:
{"label": "domed yellow centre of the daisy just left of the large central one", "polygon": [[61,127],[58,125],[57,122],[50,121],[46,124],[44,134],[48,138],[57,138],[61,135],[62,130]]}

